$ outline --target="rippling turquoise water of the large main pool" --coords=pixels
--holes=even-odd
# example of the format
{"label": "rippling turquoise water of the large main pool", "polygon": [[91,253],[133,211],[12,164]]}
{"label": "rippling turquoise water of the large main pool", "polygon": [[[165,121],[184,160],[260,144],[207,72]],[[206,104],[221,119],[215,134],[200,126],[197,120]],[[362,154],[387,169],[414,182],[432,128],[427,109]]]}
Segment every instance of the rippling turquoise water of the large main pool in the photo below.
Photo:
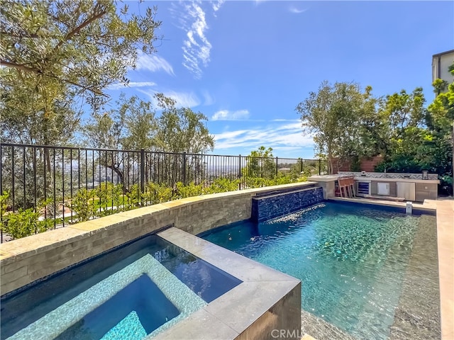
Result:
{"label": "rippling turquoise water of the large main pool", "polygon": [[301,279],[301,307],[358,339],[387,339],[419,218],[321,203],[201,237]]}

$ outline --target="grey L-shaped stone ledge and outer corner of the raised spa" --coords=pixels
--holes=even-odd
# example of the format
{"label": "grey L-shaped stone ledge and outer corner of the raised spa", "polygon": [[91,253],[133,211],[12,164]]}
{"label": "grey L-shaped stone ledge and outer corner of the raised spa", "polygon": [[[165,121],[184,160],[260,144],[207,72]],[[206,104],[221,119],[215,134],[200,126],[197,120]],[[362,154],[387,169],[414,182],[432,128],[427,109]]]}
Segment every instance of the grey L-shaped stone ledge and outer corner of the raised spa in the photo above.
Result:
{"label": "grey L-shaped stone ledge and outer corner of the raised spa", "polygon": [[270,339],[273,329],[299,333],[300,280],[175,227],[157,235],[243,282],[153,339]]}

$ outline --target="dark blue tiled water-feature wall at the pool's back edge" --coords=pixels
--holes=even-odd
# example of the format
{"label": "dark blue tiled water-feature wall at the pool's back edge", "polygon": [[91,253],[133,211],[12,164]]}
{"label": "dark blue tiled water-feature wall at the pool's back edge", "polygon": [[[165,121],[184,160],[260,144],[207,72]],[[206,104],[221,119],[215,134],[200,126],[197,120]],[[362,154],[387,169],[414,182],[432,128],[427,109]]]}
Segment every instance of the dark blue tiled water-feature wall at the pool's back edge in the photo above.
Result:
{"label": "dark blue tiled water-feature wall at the pool's back edge", "polygon": [[252,202],[251,219],[254,222],[270,220],[270,218],[286,215],[321,201],[323,201],[323,189],[321,187],[255,197]]}

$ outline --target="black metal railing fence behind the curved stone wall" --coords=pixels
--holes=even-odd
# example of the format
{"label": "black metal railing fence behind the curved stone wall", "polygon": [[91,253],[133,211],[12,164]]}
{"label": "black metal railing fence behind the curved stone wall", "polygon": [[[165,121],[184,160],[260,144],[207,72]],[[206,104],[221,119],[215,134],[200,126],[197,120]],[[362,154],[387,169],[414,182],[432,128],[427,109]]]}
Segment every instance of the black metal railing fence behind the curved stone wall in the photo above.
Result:
{"label": "black metal railing fence behind the curved stone wall", "polygon": [[[178,182],[209,186],[216,179],[238,181],[248,188],[248,179],[275,179],[299,174],[325,174],[326,161],[279,157],[223,156],[0,143],[0,195],[9,193],[4,214],[37,208],[46,202],[43,218],[53,227],[77,221],[73,199],[82,188],[120,184],[124,205],[126,194],[137,191],[139,199],[148,183],[175,188]],[[107,184],[106,184],[107,185]],[[141,201],[140,205],[150,202]],[[118,208],[111,203],[112,210]],[[1,237],[3,239],[3,237]]]}

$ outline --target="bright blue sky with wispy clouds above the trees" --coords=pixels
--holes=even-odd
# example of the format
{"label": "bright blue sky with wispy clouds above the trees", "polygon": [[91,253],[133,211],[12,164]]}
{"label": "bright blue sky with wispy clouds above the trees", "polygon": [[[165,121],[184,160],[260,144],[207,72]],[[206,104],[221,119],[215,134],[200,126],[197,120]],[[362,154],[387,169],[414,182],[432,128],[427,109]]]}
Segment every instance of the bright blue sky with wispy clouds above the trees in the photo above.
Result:
{"label": "bright blue sky with wispy clouds above the trees", "polygon": [[323,80],[354,81],[386,96],[423,87],[432,55],[454,49],[454,1],[126,1],[162,21],[154,55],[139,54],[128,87],[162,92],[206,115],[211,154],[314,158],[296,106]]}

